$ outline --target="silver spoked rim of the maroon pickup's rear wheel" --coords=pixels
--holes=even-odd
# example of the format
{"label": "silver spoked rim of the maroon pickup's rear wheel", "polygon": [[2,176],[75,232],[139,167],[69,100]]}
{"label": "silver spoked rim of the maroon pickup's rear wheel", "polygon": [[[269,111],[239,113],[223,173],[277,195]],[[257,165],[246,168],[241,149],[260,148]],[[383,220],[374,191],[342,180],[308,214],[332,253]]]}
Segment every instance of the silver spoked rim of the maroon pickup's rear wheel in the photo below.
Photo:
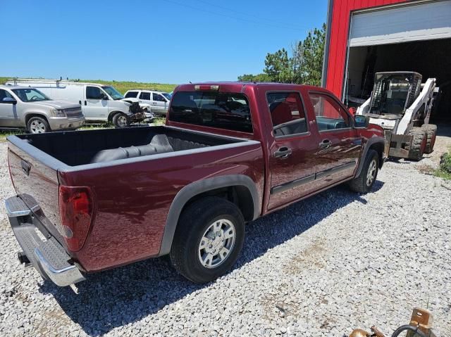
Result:
{"label": "silver spoked rim of the maroon pickup's rear wheel", "polygon": [[235,246],[235,226],[226,219],[216,220],[204,232],[199,242],[198,256],[202,266],[213,269],[222,265]]}

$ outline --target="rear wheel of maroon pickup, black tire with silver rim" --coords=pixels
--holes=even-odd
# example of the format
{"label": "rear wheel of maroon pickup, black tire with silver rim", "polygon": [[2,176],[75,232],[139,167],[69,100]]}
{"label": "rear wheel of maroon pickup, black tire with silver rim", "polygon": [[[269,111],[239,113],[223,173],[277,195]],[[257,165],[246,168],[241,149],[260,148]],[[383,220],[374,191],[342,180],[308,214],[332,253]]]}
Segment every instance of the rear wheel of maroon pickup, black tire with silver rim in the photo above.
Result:
{"label": "rear wheel of maroon pickup, black tire with silver rim", "polygon": [[[220,230],[214,234],[215,227]],[[207,197],[194,201],[180,215],[169,255],[180,274],[202,284],[235,265],[244,241],[245,220],[240,209],[223,198]]]}

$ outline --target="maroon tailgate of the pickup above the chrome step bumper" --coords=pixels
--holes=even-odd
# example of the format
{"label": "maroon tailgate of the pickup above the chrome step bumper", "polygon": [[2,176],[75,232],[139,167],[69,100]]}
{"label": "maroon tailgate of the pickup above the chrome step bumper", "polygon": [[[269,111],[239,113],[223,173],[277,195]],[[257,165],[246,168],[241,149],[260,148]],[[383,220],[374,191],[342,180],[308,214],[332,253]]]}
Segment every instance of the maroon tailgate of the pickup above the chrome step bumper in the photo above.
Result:
{"label": "maroon tailgate of the pickup above the chrome step bumper", "polygon": [[30,144],[23,145],[19,148],[8,142],[8,165],[16,193],[44,227],[64,244],[57,230],[60,227],[58,170],[43,163],[41,151],[32,151],[35,148]]}

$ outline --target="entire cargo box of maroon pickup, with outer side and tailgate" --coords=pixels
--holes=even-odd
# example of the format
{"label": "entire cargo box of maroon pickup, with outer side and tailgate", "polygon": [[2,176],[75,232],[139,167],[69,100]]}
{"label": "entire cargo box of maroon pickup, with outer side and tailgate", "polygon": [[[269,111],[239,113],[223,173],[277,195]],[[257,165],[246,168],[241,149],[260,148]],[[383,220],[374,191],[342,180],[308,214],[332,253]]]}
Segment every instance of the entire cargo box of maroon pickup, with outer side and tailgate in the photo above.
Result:
{"label": "entire cargo box of maroon pickup, with outer side and tailgate", "polygon": [[[170,147],[155,138],[167,139]],[[140,153],[142,146],[156,151],[149,154],[144,148]],[[125,151],[130,156],[98,160],[104,151],[113,151],[113,155]],[[259,141],[177,127],[10,136],[8,160],[16,193],[39,222],[37,227],[43,225],[66,250],[59,189],[88,186],[92,191],[94,217],[89,235],[80,250],[68,250],[85,272],[161,254],[171,203],[192,182],[245,174],[259,191],[264,185]],[[258,210],[250,211],[253,217]]]}

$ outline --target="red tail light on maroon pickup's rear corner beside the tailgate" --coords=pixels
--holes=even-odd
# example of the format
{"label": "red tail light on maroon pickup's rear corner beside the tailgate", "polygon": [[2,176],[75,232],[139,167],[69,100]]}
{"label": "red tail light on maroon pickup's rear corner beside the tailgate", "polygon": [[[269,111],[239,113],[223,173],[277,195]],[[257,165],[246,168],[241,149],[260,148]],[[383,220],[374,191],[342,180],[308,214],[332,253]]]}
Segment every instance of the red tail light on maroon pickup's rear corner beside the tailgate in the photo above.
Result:
{"label": "red tail light on maroon pickup's rear corner beside the tailgate", "polygon": [[93,210],[89,187],[59,186],[59,215],[68,250],[82,248],[91,227]]}

